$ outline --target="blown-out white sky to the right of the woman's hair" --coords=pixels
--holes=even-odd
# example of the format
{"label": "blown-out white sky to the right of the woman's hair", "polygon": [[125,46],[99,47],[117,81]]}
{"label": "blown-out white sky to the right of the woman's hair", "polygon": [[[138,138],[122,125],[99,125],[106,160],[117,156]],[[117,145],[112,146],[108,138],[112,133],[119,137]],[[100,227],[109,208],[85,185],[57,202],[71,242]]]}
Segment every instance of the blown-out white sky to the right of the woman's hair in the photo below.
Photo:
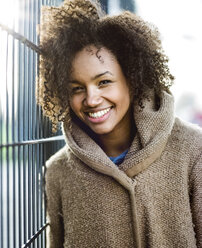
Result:
{"label": "blown-out white sky to the right of the woman's hair", "polygon": [[136,0],[136,4],[137,14],[162,34],[176,77],[172,88],[176,103],[189,95],[202,111],[202,0]]}

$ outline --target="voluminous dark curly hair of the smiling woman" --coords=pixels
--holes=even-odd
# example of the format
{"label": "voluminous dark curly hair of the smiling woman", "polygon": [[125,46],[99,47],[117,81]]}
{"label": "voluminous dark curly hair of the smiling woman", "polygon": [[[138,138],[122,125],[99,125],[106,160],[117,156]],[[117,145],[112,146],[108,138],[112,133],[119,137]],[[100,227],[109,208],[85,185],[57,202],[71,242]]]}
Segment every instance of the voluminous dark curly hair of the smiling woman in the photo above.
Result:
{"label": "voluminous dark curly hair of the smiling woman", "polygon": [[66,0],[44,7],[40,25],[38,102],[53,126],[69,121],[68,81],[77,52],[88,45],[105,47],[117,58],[140,107],[148,89],[169,90],[174,77],[162,50],[158,30],[128,11],[107,16],[98,2]]}

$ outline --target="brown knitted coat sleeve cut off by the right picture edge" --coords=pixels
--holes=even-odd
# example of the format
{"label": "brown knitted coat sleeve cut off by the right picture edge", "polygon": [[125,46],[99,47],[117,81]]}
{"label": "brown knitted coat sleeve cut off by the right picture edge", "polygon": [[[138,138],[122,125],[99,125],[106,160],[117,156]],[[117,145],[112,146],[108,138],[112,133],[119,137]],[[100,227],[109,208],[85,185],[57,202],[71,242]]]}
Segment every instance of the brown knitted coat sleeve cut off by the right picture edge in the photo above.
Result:
{"label": "brown knitted coat sleeve cut off by the right picture edge", "polygon": [[191,175],[191,207],[196,233],[197,247],[202,247],[202,156],[194,166]]}

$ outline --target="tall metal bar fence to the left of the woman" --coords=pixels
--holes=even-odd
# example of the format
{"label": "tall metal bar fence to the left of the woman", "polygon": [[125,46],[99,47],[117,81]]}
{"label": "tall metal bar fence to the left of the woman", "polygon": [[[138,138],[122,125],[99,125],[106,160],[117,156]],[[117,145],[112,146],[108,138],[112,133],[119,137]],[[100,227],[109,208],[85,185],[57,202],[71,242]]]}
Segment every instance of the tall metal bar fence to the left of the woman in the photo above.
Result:
{"label": "tall metal bar fence to the left of the woman", "polygon": [[[0,247],[46,247],[44,163],[64,145],[36,104],[36,27],[42,5],[62,0],[5,0],[0,23]],[[7,8],[6,8],[7,4]],[[9,6],[10,4],[10,6]],[[10,8],[10,11],[9,11]],[[15,16],[9,16],[14,13]],[[8,28],[9,26],[9,28]],[[33,235],[37,234],[37,238]],[[32,239],[31,239],[32,238]],[[30,240],[31,239],[31,240]]]}

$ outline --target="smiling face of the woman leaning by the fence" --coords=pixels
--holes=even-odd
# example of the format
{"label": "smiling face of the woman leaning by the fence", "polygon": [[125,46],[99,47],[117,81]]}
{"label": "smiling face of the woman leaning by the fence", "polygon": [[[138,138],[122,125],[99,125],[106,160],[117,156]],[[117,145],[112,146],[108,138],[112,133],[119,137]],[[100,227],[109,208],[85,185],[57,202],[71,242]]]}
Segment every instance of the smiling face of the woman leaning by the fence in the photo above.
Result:
{"label": "smiling face of the woman leaning by the fence", "polygon": [[126,78],[115,56],[106,48],[85,47],[72,62],[70,106],[98,134],[124,131],[130,122]]}

